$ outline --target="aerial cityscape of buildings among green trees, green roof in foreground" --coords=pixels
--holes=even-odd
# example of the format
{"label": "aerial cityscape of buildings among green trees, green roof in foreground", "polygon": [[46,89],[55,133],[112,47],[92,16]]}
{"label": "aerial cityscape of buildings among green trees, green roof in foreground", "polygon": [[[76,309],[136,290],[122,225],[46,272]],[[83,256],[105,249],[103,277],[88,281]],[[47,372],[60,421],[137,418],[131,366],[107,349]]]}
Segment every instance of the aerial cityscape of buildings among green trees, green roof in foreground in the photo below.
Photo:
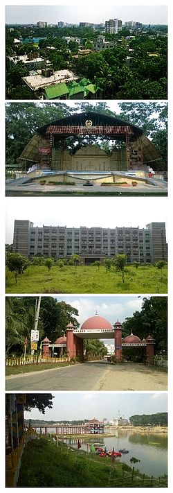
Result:
{"label": "aerial cityscape of buildings among green trees, green roof in foreground", "polygon": [[[163,20],[139,21],[136,8],[134,20],[124,21],[116,17],[117,9],[111,9],[114,17],[102,22],[37,19],[28,23],[30,8],[23,6],[19,19],[26,20],[22,22],[10,15],[11,8],[7,7],[6,16],[7,99],[167,98]],[[144,14],[140,17],[145,19]],[[14,23],[8,20],[12,18]]]}

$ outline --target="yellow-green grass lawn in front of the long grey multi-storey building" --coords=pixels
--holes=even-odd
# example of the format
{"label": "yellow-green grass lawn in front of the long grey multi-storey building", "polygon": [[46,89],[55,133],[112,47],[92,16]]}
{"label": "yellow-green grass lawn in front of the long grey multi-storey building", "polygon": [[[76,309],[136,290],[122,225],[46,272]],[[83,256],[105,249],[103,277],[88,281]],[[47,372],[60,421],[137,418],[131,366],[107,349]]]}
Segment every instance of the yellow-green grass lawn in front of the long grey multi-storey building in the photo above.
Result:
{"label": "yellow-green grass lawn in front of the long grey multi-storey building", "polygon": [[6,277],[6,293],[167,293],[167,267],[162,270],[149,265],[127,266],[125,282],[120,273],[111,268],[106,273],[100,266],[30,266],[17,278],[9,271]]}

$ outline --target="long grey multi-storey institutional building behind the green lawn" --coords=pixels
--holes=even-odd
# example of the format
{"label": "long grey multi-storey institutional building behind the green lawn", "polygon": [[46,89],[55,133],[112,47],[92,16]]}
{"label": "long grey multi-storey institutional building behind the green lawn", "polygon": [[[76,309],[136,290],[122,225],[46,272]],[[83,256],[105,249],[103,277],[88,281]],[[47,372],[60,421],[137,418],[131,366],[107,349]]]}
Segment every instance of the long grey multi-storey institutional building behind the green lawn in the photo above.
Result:
{"label": "long grey multi-storey institutional building behind the green lawn", "polygon": [[34,256],[70,259],[78,254],[84,263],[117,254],[126,254],[127,263],[155,263],[167,260],[165,223],[139,227],[66,227],[33,225],[30,220],[15,220],[13,252]]}

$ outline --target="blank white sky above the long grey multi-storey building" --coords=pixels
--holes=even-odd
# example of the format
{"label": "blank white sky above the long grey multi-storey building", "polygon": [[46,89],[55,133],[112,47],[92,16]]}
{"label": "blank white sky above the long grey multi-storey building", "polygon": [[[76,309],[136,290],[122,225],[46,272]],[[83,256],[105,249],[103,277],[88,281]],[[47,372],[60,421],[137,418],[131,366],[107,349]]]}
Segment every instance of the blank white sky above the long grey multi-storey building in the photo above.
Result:
{"label": "blank white sky above the long grey multi-storey building", "polygon": [[[154,207],[153,207],[154,206]],[[145,227],[167,221],[163,197],[6,197],[6,243],[12,243],[15,219],[35,226]]]}

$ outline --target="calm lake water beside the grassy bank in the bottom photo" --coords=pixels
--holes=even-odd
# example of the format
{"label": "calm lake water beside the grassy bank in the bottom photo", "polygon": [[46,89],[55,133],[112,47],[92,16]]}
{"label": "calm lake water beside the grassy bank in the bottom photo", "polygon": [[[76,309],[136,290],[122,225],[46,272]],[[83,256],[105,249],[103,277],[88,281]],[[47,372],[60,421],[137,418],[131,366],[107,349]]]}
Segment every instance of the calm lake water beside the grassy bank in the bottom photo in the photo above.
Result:
{"label": "calm lake water beside the grassy bank in the bottom photo", "polygon": [[[48,433],[55,433],[55,429],[48,429]],[[136,457],[140,462],[136,463],[135,468],[143,474],[155,478],[167,474],[167,433],[137,433],[113,429],[107,429],[107,433],[114,433],[115,436],[102,438],[102,435],[92,435],[91,438],[82,438],[81,435],[82,450],[90,451],[89,444],[92,442],[105,444],[110,451],[113,447],[115,451],[127,449],[129,453],[122,454],[120,462],[131,465],[130,458]],[[64,438],[63,441],[69,444],[69,438]],[[71,435],[71,447],[77,449],[77,444],[78,440]]]}

